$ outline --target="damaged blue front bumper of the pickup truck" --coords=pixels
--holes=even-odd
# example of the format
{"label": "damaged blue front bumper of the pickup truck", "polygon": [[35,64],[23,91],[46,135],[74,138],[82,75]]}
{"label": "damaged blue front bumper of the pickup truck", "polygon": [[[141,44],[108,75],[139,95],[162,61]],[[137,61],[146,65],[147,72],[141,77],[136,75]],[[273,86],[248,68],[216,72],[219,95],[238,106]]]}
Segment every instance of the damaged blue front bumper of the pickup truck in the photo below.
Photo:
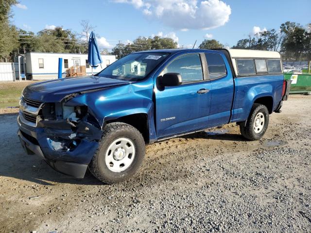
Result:
{"label": "damaged blue front bumper of the pickup truck", "polygon": [[51,130],[48,128],[31,127],[23,124],[17,117],[18,138],[27,154],[35,153],[44,159],[53,169],[76,177],[83,178],[88,164],[99,147],[96,140],[81,139],[74,150],[55,151],[47,138],[73,133],[71,130]]}

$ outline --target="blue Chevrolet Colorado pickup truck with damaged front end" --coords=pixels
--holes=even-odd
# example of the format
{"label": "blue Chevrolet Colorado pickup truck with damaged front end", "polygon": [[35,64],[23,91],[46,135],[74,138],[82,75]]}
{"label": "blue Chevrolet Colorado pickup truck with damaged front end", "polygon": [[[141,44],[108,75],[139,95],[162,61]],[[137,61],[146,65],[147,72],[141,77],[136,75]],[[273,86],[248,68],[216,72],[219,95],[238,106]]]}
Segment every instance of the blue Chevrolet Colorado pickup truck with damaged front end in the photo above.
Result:
{"label": "blue Chevrolet Colorado pickup truck with damaged front end", "polygon": [[258,50],[151,50],[94,76],[28,85],[17,135],[28,154],[83,178],[121,182],[145,145],[236,122],[248,140],[266,132],[290,83],[280,54]]}

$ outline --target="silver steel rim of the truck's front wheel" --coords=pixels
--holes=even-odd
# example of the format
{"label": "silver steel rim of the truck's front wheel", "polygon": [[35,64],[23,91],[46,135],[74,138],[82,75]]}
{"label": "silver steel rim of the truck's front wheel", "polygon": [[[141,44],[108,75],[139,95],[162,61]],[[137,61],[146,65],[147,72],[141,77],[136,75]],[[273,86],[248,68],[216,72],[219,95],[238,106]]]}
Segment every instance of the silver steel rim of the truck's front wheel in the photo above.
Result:
{"label": "silver steel rim of the truck's front wheel", "polygon": [[114,140],[106,150],[105,162],[110,171],[125,171],[134,161],[134,143],[125,137]]}

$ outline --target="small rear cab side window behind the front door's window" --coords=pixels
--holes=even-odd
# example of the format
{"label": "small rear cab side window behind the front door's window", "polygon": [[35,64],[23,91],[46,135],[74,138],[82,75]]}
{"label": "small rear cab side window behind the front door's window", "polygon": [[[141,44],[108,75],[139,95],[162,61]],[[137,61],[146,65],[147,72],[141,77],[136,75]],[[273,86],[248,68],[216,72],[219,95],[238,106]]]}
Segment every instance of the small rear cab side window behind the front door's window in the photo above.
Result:
{"label": "small rear cab side window behind the front door's window", "polygon": [[225,62],[221,55],[206,53],[206,60],[210,79],[216,79],[227,74]]}

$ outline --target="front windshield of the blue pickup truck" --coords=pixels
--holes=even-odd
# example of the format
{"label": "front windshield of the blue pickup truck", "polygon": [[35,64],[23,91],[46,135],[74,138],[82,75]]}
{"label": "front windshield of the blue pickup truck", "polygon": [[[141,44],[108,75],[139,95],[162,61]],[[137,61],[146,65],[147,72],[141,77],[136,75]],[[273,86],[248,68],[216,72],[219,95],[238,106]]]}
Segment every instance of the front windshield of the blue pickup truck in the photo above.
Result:
{"label": "front windshield of the blue pickup truck", "polygon": [[169,53],[141,52],[129,54],[103,69],[96,76],[127,81],[143,80]]}

